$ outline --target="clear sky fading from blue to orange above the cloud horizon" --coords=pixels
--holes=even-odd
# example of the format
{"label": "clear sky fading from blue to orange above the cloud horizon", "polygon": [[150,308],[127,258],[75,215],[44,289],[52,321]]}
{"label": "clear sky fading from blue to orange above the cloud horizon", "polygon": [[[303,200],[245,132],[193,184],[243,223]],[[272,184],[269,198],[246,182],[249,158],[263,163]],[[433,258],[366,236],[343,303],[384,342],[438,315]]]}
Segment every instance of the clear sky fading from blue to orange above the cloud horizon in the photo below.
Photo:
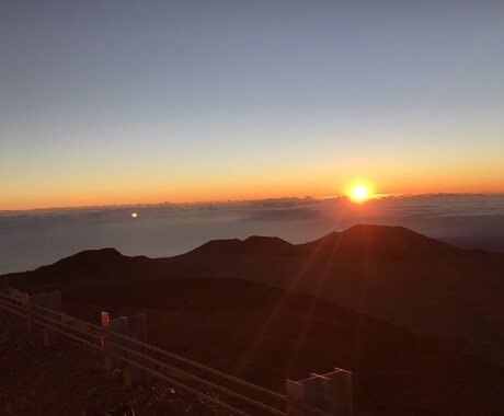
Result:
{"label": "clear sky fading from blue to orange above the cloud horizon", "polygon": [[504,2],[1,0],[0,209],[504,192]]}

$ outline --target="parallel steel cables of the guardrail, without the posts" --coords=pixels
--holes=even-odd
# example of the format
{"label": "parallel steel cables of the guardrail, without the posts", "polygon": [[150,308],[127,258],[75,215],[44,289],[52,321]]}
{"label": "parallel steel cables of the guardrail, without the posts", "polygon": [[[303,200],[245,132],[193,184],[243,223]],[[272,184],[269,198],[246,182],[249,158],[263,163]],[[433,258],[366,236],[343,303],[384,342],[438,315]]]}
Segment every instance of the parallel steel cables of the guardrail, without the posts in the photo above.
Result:
{"label": "parallel steel cables of the guardrail, without the posts", "polygon": [[[329,413],[306,403],[296,403],[290,397],[248,381],[226,374],[210,367],[165,351],[133,337],[108,331],[90,322],[79,320],[30,302],[25,293],[0,292],[0,308],[24,317],[30,325],[39,325],[45,331],[60,334],[81,345],[98,349],[122,360],[170,385],[193,394],[203,402],[231,415],[288,415],[288,404],[307,415],[331,416]],[[114,340],[107,338],[113,335]],[[116,342],[119,339],[122,342]],[[140,347],[135,350],[131,346]],[[299,413],[297,413],[299,414]],[[303,413],[301,413],[303,414]]]}

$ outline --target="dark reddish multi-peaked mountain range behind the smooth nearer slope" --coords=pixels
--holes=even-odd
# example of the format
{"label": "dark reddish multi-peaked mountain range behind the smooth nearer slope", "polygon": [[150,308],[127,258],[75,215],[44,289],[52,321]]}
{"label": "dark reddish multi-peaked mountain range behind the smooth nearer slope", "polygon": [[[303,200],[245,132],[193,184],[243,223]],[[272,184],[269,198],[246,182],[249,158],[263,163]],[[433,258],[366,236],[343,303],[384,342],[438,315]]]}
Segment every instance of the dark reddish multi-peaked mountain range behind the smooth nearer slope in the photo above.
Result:
{"label": "dark reddish multi-peaked mountain range behind the smooth nearer slope", "polygon": [[402,227],[355,226],[306,244],[252,236],[160,259],[89,251],[11,278],[33,290],[90,280],[248,279],[333,301],[504,367],[502,270],[502,254]]}

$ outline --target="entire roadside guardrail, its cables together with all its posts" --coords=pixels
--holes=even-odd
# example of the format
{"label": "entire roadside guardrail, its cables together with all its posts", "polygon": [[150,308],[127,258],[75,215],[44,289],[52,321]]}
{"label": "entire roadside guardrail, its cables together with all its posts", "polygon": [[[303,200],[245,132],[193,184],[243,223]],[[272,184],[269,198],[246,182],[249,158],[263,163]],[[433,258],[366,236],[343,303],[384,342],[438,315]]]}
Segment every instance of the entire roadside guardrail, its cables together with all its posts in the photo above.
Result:
{"label": "entire roadside guardrail, its cables together with all its posts", "polygon": [[[329,377],[344,370],[312,374],[300,382],[287,381],[287,395],[284,395],[146,343],[145,315],[141,314],[128,321],[125,316],[108,320],[108,315],[102,313],[102,326],[99,326],[64,313],[58,291],[27,296],[4,285],[4,281],[0,286],[0,309],[26,319],[31,332],[43,330],[47,346],[59,344],[62,337],[67,337],[102,351],[110,370],[123,370],[126,384],[142,383],[146,374],[150,374],[238,416],[352,414],[348,383],[342,390],[341,377],[337,383],[332,383],[339,389],[336,405],[328,404],[331,402],[328,385],[332,385],[328,382]],[[345,377],[352,374],[344,373]],[[321,394],[325,396],[321,397]],[[342,396],[345,401],[341,400]]]}

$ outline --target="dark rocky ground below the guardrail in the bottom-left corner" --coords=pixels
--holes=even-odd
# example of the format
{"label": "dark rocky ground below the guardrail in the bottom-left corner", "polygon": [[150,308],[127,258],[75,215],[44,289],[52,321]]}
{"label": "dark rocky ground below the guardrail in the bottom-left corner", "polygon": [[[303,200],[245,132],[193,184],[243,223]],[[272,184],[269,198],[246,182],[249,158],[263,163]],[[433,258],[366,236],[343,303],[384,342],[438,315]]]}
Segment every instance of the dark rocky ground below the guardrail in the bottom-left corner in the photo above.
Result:
{"label": "dark rocky ground below the guardrail in the bottom-left corner", "polygon": [[0,416],[222,415],[198,398],[150,380],[123,385],[103,357],[76,342],[45,347],[26,324],[0,311]]}

